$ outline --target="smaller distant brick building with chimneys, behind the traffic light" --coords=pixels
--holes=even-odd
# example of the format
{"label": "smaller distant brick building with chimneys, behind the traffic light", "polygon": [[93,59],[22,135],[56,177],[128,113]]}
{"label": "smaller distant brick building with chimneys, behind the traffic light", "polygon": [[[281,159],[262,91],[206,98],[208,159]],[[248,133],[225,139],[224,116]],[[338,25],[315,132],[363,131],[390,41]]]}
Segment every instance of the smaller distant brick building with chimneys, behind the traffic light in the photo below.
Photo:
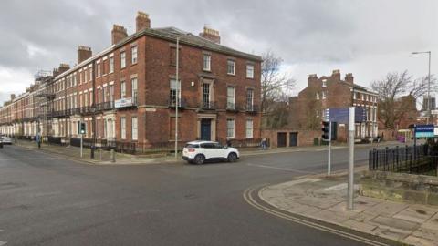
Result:
{"label": "smaller distant brick building with chimneys, behind the traffic light", "polygon": [[[354,84],[353,75],[340,79],[339,70],[329,77],[309,75],[308,87],[289,99],[290,128],[319,129],[325,118],[327,108],[348,108],[351,106],[366,109],[366,122],[356,123],[356,138],[374,138],[378,134],[377,101],[378,95],[365,87]],[[339,124],[339,140],[346,140],[348,128]]]}

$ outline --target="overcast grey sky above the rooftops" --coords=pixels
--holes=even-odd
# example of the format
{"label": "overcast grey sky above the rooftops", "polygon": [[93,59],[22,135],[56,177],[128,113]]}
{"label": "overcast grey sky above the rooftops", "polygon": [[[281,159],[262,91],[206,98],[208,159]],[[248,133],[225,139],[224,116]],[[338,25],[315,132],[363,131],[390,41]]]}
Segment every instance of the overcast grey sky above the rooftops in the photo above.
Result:
{"label": "overcast grey sky above the rooftops", "polygon": [[0,103],[33,82],[39,69],[73,66],[78,45],[97,53],[110,46],[112,24],[135,31],[138,10],[151,27],[175,26],[199,34],[204,25],[220,31],[221,42],[255,55],[272,50],[283,70],[306,87],[308,74],[353,73],[370,82],[391,71],[438,74],[438,1],[67,1],[2,0],[0,3]]}

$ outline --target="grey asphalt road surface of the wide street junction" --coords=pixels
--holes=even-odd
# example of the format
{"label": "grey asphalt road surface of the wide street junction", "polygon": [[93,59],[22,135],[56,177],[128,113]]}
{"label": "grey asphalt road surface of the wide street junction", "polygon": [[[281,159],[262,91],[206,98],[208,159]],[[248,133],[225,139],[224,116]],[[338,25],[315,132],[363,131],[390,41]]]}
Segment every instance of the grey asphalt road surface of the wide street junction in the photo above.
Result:
{"label": "grey asphalt road surface of the wide street junction", "polygon": [[[95,166],[0,149],[1,245],[364,245],[256,210],[249,187],[326,171],[325,151]],[[347,149],[333,169],[347,168]],[[364,162],[368,149],[357,149]]]}

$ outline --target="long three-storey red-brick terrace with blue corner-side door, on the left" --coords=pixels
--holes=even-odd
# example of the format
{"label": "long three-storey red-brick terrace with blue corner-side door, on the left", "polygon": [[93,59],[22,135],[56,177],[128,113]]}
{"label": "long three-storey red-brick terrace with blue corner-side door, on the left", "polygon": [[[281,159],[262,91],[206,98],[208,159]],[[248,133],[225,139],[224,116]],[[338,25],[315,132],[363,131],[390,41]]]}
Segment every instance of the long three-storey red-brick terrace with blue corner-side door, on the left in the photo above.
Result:
{"label": "long three-storey red-brick terrace with blue corner-side door, on the left", "polygon": [[[26,115],[38,102],[47,110],[37,122],[47,118],[47,136],[62,141],[78,138],[78,122],[85,122],[84,138],[97,142],[168,145],[174,140],[179,97],[182,141],[260,138],[260,56],[220,45],[219,33],[207,27],[200,36],[174,27],[151,28],[149,16],[141,12],[136,26],[128,36],[123,26],[114,25],[112,45],[97,55],[79,46],[78,65],[55,70],[53,79],[40,86],[38,100],[26,93],[0,109],[0,132],[44,133],[44,124],[34,129],[36,118]],[[22,130],[27,124],[33,130]]]}

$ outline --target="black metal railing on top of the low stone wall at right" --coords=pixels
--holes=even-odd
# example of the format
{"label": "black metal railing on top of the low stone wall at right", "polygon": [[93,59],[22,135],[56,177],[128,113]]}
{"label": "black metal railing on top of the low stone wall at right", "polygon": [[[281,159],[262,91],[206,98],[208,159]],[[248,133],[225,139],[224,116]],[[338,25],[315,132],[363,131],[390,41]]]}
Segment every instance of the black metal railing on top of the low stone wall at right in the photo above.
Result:
{"label": "black metal railing on top of the low stone wall at right", "polygon": [[427,174],[438,164],[438,152],[428,145],[372,149],[369,155],[370,170]]}

